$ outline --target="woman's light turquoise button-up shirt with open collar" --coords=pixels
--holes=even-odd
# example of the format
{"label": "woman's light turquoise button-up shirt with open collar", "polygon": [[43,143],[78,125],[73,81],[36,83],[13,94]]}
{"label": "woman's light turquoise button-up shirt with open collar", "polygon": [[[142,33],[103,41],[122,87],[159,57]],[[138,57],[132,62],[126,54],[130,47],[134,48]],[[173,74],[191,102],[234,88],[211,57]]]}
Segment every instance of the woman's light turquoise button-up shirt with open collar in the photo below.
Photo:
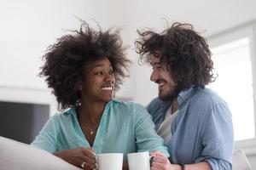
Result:
{"label": "woman's light turquoise button-up shirt with open collar", "polygon": [[[49,152],[90,147],[73,108],[52,116],[32,145]],[[142,105],[116,99],[105,106],[92,147],[97,154],[124,153],[125,159],[127,153],[146,150],[159,150],[169,156],[148,111]]]}

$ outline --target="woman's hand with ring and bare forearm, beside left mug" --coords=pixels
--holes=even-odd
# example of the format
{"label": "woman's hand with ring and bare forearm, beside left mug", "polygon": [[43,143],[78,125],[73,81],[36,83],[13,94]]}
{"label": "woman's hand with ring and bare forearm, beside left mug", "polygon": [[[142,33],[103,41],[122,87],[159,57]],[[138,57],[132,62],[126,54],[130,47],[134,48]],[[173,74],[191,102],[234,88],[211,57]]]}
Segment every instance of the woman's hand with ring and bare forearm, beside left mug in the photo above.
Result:
{"label": "woman's hand with ring and bare forearm, beside left mug", "polygon": [[79,147],[73,150],[60,150],[54,153],[64,161],[84,170],[96,169],[96,154],[92,148]]}

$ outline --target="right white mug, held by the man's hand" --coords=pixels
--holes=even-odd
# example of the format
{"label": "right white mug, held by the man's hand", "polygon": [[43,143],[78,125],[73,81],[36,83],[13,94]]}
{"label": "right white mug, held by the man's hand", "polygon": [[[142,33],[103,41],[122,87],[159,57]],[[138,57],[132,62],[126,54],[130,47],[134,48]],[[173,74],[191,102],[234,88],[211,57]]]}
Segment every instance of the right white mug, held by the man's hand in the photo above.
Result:
{"label": "right white mug, held by the man's hand", "polygon": [[149,156],[148,151],[130,153],[127,156],[129,170],[150,170],[150,159],[153,156]]}

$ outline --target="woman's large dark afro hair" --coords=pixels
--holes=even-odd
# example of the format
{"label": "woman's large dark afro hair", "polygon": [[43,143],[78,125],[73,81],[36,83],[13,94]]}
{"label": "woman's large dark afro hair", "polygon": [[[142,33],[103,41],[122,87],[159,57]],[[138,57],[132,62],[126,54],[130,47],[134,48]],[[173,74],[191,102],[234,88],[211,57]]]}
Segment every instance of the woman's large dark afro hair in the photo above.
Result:
{"label": "woman's large dark afro hair", "polygon": [[119,29],[102,31],[99,26],[99,31],[96,31],[82,21],[79,31],[71,31],[71,34],[58,38],[47,48],[39,75],[46,77],[61,109],[67,109],[80,100],[78,85],[82,82],[84,66],[103,58],[108,58],[113,66],[117,90],[123,79],[128,77],[131,62],[125,56]]}

